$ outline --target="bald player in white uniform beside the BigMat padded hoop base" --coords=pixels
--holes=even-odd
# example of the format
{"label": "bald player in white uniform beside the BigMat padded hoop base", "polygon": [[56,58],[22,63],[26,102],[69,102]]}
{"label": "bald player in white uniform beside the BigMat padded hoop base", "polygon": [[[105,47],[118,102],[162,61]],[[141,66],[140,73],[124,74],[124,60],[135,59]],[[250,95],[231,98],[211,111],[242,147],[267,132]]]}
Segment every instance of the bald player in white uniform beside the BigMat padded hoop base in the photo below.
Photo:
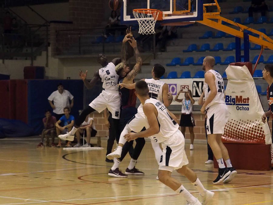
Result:
{"label": "bald player in white uniform beside the BigMat padded hoop base", "polygon": [[[202,69],[205,71],[203,92],[205,102],[201,108],[201,113],[207,115],[205,127],[207,129],[207,142],[211,146],[212,152],[217,159],[219,166],[218,176],[213,184],[230,182],[237,171],[232,167],[227,152],[227,148],[222,143],[222,134],[228,119],[228,109],[225,103],[224,81],[221,75],[213,67],[215,59],[212,56],[204,58]],[[224,165],[224,160],[227,168]]]}

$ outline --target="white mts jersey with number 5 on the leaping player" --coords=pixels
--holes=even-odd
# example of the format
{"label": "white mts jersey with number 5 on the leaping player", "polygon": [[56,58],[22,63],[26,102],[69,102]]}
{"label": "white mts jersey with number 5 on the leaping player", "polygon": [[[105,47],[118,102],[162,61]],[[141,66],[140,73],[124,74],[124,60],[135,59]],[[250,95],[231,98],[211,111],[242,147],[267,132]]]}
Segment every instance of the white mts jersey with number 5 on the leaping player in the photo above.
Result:
{"label": "white mts jersey with number 5 on the leaping player", "polygon": [[118,79],[119,75],[116,74],[116,66],[110,62],[104,68],[99,69],[99,77],[103,82],[103,88],[107,91],[119,91]]}

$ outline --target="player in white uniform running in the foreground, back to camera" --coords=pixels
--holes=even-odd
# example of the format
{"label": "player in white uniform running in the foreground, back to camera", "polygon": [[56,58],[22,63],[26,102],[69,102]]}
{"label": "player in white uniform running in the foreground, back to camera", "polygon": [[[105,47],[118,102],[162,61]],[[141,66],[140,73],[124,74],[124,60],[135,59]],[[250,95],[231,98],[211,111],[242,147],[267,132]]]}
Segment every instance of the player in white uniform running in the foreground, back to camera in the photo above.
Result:
{"label": "player in white uniform running in the foreground, back to camera", "polygon": [[143,105],[143,112],[149,128],[139,133],[127,133],[124,137],[131,141],[138,137],[153,136],[153,140],[162,144],[162,155],[158,168],[158,177],[160,182],[164,183],[178,194],[182,194],[189,205],[201,205],[195,198],[171,173],[177,170],[178,173],[187,177],[188,180],[199,191],[202,197],[202,204],[207,204],[214,196],[204,188],[196,173],[187,167],[188,159],[184,150],[185,139],[180,132],[179,125],[174,120],[175,115],[171,113],[166,106],[157,99],[150,98],[147,83],[140,80],[136,83],[136,96]]}

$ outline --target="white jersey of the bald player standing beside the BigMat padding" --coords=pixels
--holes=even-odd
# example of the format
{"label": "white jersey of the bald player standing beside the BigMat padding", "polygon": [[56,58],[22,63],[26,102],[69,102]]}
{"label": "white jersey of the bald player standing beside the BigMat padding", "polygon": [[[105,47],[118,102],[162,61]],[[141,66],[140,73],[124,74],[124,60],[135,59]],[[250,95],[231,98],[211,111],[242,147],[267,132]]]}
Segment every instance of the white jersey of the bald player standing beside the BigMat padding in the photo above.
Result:
{"label": "white jersey of the bald player standing beside the BigMat padding", "polygon": [[[206,109],[208,109],[210,106],[212,106],[214,104],[221,104],[221,103],[225,104],[224,80],[223,80],[222,76],[217,71],[215,71],[213,69],[210,69],[207,72],[211,72],[215,76],[214,82],[215,82],[217,94],[214,97],[214,99],[206,106]],[[207,85],[207,83],[205,82],[205,80],[204,80],[203,90],[205,93],[205,100],[207,100],[208,96],[211,93],[211,90],[210,90],[209,86]]]}

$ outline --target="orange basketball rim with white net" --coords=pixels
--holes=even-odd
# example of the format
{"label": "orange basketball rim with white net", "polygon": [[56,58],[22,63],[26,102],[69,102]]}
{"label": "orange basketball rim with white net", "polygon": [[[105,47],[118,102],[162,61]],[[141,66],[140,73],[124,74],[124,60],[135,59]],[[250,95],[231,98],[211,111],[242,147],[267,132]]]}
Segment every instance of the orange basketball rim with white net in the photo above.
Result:
{"label": "orange basketball rim with white net", "polygon": [[162,12],[157,9],[138,8],[133,9],[133,15],[136,18],[140,34],[154,34],[154,26],[157,20],[162,21]]}

